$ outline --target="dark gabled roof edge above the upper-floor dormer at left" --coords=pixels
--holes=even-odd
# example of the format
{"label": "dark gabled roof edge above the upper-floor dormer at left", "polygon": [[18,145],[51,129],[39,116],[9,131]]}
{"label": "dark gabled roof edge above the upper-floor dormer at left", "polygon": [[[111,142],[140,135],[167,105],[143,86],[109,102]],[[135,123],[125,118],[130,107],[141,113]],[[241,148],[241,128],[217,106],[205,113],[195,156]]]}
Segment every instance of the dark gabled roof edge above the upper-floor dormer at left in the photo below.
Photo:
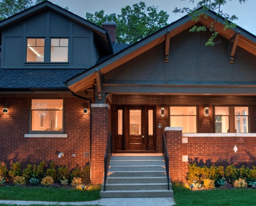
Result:
{"label": "dark gabled roof edge above the upper-floor dormer at left", "polygon": [[[81,18],[80,16],[78,16],[66,9],[63,9],[62,7],[59,7],[49,1],[44,1],[40,4],[37,4],[33,7],[28,8],[20,13],[12,15],[7,19],[0,21],[0,36],[2,36],[2,30],[4,28],[9,27],[18,22],[21,22],[24,19],[27,19],[33,15],[36,15],[37,13],[39,13],[41,11],[48,11],[48,10],[59,13],[62,16],[65,16],[66,18],[93,30],[97,41],[99,41],[100,45],[106,50],[106,53],[109,55],[113,54],[113,48],[112,48],[108,30],[106,30],[96,24],[93,24],[93,23]],[[1,38],[0,38],[0,45],[1,45]]]}

